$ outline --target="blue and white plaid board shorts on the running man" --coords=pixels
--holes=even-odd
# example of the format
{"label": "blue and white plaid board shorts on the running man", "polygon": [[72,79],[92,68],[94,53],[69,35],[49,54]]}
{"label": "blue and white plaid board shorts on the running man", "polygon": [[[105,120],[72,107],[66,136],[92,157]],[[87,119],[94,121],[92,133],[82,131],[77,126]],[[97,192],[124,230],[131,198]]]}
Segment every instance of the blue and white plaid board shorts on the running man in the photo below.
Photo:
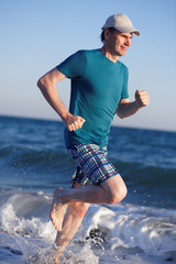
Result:
{"label": "blue and white plaid board shorts on the running man", "polygon": [[96,144],[79,144],[69,147],[68,153],[77,166],[70,187],[74,187],[75,182],[81,185],[100,185],[119,174],[107,158],[107,147],[101,148]]}

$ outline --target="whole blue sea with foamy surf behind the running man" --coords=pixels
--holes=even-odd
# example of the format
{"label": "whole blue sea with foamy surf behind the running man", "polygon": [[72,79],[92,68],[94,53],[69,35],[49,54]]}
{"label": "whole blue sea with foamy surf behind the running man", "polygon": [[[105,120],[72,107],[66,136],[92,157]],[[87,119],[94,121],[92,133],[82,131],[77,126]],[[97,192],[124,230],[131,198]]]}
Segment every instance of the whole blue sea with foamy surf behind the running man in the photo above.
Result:
{"label": "whole blue sea with foamy surf behind the running man", "polygon": [[[0,263],[54,263],[52,195],[75,169],[63,131],[0,117]],[[90,207],[63,264],[176,263],[176,133],[112,127],[108,150],[128,196]]]}

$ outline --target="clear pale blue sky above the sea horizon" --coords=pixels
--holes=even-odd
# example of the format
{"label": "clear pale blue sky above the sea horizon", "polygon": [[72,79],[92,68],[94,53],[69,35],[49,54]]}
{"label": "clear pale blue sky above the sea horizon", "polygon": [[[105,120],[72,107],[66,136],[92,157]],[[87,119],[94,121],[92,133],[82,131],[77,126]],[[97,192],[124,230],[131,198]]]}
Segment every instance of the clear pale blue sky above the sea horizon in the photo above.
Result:
{"label": "clear pale blue sky above the sea horizon", "polygon": [[[130,100],[147,90],[151,103],[113,124],[176,131],[176,0],[0,0],[0,114],[59,120],[37,79],[78,50],[101,47],[101,28],[114,13],[141,32],[120,58]],[[57,90],[68,107],[69,80]]]}

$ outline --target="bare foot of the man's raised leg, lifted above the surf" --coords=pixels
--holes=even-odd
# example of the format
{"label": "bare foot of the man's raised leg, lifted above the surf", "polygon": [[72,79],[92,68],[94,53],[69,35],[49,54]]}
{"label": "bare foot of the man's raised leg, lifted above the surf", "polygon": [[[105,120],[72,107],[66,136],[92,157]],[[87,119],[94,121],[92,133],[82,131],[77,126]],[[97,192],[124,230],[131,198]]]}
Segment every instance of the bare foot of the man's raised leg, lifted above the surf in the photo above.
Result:
{"label": "bare foot of the man's raised leg, lifted above the surf", "polygon": [[53,202],[51,208],[51,220],[57,231],[62,231],[64,215],[67,209],[67,204],[62,202],[62,193],[64,190],[62,188],[58,188],[54,191],[53,195]]}

